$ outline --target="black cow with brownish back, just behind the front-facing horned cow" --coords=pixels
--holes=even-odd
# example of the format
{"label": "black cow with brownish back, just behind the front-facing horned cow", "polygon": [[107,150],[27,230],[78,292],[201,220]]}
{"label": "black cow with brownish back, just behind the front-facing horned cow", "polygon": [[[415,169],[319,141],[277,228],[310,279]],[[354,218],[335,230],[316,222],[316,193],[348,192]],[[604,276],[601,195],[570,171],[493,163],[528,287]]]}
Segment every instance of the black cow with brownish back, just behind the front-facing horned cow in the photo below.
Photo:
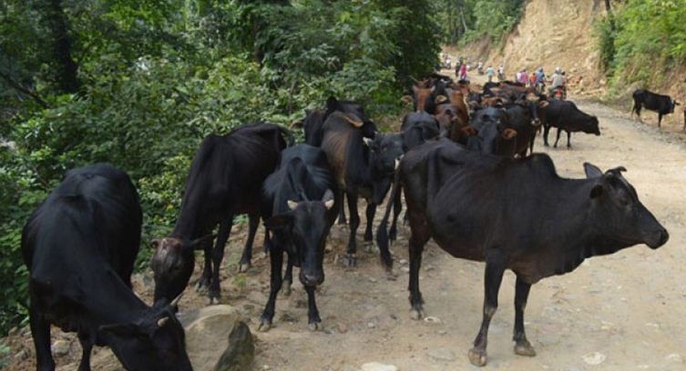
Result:
{"label": "black cow with brownish back, just behind the front-facing horned cow", "polygon": [[[356,265],[355,233],[360,226],[357,214],[358,196],[367,200],[365,241],[372,241],[372,224],[376,206],[384,200],[391,186],[396,160],[403,155],[403,145],[396,135],[377,134],[374,139],[363,136],[361,122],[355,122],[342,112],[326,118],[323,125],[322,149],[336,178],[336,184],[348,198],[350,240],[346,262]],[[341,196],[337,204],[341,204]],[[341,204],[342,205],[342,204]]]}

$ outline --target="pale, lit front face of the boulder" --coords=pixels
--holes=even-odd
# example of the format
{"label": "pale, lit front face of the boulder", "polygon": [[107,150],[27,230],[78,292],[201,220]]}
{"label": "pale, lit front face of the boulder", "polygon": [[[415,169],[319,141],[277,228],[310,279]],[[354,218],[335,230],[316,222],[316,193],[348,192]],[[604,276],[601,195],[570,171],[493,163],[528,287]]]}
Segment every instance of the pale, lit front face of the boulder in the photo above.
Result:
{"label": "pale, lit front face of the boulder", "polygon": [[243,320],[239,308],[205,306],[179,313],[186,330],[186,351],[195,371],[212,371],[229,346],[229,336]]}

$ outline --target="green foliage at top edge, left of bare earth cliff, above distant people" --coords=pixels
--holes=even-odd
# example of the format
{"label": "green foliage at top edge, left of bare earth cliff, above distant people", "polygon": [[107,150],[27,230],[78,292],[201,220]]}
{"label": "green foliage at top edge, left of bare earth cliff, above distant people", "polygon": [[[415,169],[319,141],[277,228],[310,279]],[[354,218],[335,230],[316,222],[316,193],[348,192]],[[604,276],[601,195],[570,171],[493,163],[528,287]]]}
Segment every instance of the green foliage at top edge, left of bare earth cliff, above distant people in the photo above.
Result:
{"label": "green foliage at top edge, left of bare earth cliff, above distant people", "polygon": [[466,44],[482,37],[493,42],[517,25],[524,0],[433,0],[443,41]]}

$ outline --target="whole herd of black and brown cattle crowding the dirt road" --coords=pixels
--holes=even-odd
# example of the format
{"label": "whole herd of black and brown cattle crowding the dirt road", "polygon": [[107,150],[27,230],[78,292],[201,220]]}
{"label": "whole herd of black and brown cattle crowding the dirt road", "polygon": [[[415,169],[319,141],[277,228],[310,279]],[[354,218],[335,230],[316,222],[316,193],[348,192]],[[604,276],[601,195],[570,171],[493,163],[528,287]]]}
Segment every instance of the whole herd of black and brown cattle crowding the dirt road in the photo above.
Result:
{"label": "whole herd of black and brown cattle crowding the dirt road", "polygon": [[239,214],[247,214],[250,225],[241,270],[251,265],[260,219],[266,230],[271,292],[260,329],[269,330],[276,296],[290,292],[292,267],[298,266],[308,323],[316,330],[321,318],[315,288],[324,280],[330,229],[336,217],[345,223],[344,199],[350,226],[344,261],[355,266],[358,198],[366,201],[363,238],[372,241],[376,207],[391,190],[376,233],[382,264],[390,269],[388,246],[397,234],[402,189],[411,229],[413,318],[423,316],[419,269],[429,238],[452,256],[486,262],[483,322],[468,352],[477,366],[486,364],[488,326],[506,269],[517,275],[515,353],[535,356],[524,329],[531,285],[568,273],[587,257],[637,244],[657,248],[669,238],[622,176],[623,167],[603,172],[587,163],[587,178],[566,179],[548,155],[531,154],[541,127],[546,145],[550,127],[558,128],[558,139],[567,131],[568,145],[572,132],[599,135],[598,119],[573,103],[509,83],[475,92],[442,75],[415,82],[412,93],[404,99],[415,109],[404,116],[400,133],[380,133],[361,105],[331,97],[297,123],[305,134],[301,145],[292,144],[289,130],[265,123],[206,137],[190,166],[173,232],[152,241],[153,306],[131,289],[141,210],[128,175],[110,165],[69,171],[22,236],[37,369],[55,368],[55,324],[77,332],[83,346],[79,370],[90,369],[93,345],[109,346],[128,370],[190,370],[175,316],[179,296],[189,284],[195,252],[202,250],[198,287],[208,290],[211,303],[219,301],[224,246]]}

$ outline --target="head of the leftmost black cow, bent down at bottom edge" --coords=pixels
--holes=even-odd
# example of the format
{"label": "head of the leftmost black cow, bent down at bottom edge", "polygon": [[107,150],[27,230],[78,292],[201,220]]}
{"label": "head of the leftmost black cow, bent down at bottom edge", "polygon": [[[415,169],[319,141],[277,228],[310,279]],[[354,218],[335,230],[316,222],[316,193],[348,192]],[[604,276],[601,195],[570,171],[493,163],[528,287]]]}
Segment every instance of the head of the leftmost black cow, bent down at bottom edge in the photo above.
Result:
{"label": "head of the leftmost black cow, bent down at bottom edge", "polygon": [[159,300],[131,322],[99,326],[98,337],[128,370],[191,371],[176,304]]}

